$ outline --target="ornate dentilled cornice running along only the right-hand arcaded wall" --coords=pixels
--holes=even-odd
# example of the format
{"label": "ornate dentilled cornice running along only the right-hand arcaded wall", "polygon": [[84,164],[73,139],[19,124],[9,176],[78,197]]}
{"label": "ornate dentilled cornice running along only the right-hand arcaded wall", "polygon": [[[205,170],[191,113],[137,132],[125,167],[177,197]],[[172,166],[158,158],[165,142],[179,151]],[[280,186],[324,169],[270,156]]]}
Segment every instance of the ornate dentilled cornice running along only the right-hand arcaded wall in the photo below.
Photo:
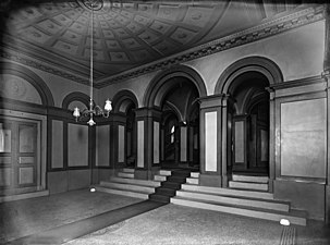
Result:
{"label": "ornate dentilled cornice running along only the right-hand arcaded wall", "polygon": [[278,35],[280,33],[284,33],[304,25],[318,22],[325,19],[323,9],[323,5],[319,5],[316,8],[311,7],[300,12],[292,13],[290,15],[267,22],[265,24],[242,30],[240,33],[229,35],[218,40],[200,45],[181,53],[173,54],[160,61],[155,61],[146,65],[132,69],[119,75],[100,78],[98,79],[96,86],[101,88],[110,84],[119,83],[126,78],[136,77],[142,74],[146,74],[178,63],[213,54],[216,52],[254,42],[270,36]]}

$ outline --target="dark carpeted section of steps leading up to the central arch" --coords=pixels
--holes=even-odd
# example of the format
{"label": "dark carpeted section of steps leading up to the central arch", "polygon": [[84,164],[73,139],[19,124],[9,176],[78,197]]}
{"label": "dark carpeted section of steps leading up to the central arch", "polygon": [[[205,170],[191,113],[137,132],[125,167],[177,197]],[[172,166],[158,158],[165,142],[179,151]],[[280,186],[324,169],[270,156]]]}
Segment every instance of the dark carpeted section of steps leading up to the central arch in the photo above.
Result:
{"label": "dark carpeted section of steps leading up to the central arch", "polygon": [[191,171],[187,170],[160,170],[159,174],[155,175],[155,181],[159,181],[161,185],[156,187],[154,194],[149,195],[149,199],[170,203],[171,197],[175,196],[176,191],[181,189],[181,185],[186,183],[188,176],[191,176]]}

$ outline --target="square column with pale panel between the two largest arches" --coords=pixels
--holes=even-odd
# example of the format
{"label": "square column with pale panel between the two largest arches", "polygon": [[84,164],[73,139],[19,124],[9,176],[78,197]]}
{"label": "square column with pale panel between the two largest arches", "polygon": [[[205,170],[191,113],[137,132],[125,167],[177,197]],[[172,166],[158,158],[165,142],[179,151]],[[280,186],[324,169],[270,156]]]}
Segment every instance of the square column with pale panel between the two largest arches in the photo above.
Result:
{"label": "square column with pale panel between the two largest arches", "polygon": [[222,96],[200,98],[200,185],[222,186],[221,102]]}

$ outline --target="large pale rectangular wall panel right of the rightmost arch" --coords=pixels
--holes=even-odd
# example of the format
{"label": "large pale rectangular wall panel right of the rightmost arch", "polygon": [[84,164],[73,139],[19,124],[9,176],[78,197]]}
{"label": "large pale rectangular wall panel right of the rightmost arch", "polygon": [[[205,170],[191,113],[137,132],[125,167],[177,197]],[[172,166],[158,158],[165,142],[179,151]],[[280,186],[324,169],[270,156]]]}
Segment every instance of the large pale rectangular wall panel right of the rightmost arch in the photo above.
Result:
{"label": "large pale rectangular wall panel right of the rightmost arch", "polygon": [[281,103],[281,175],[326,177],[326,99]]}

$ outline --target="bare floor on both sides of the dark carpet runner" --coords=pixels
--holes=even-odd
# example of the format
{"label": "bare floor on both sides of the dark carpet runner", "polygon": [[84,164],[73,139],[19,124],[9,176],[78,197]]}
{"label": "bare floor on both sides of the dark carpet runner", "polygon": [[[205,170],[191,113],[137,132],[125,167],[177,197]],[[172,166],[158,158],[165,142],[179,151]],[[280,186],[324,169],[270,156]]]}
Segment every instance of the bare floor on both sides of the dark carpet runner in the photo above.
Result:
{"label": "bare floor on both sides of the dark carpet runner", "polygon": [[[76,222],[140,199],[69,192],[0,204],[0,243]],[[293,236],[288,236],[293,234]],[[260,244],[328,245],[330,229],[321,222],[283,228],[277,222],[244,218],[216,211],[166,205],[69,242],[81,244]]]}

